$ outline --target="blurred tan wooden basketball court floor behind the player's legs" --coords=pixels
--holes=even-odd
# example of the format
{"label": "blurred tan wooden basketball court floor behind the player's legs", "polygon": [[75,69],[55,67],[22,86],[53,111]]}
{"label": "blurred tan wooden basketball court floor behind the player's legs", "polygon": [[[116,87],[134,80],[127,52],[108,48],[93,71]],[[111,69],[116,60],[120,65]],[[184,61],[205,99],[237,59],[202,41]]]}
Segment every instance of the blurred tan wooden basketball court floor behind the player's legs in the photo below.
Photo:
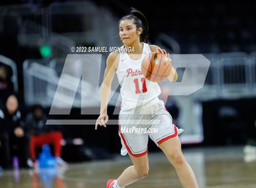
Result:
{"label": "blurred tan wooden basketball court floor behind the player's legs", "polygon": [[[183,150],[200,187],[256,187],[256,163],[244,163],[243,147]],[[70,164],[68,169],[0,172],[0,187],[105,187],[132,163],[128,156]],[[149,175],[127,187],[182,187],[163,153],[149,153]]]}

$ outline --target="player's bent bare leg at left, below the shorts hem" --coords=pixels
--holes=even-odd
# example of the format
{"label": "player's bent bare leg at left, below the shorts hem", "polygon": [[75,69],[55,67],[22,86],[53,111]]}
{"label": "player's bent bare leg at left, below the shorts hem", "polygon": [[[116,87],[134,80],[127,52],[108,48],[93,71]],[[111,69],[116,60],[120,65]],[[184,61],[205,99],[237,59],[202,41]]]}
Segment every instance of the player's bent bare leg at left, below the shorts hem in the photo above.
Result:
{"label": "player's bent bare leg at left, below the shorts hem", "polygon": [[125,187],[132,184],[133,182],[146,177],[149,172],[148,154],[139,157],[130,154],[129,156],[130,159],[132,159],[133,166],[127,167],[127,169],[125,169],[118,177],[116,183],[119,187]]}

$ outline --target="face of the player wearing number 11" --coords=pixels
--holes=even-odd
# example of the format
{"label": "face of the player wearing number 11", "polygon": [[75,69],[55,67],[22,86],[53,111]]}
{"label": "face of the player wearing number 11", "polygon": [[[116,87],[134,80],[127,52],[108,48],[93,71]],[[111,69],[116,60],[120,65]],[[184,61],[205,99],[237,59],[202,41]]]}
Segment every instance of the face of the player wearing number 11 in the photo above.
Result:
{"label": "face of the player wearing number 11", "polygon": [[136,40],[140,41],[140,33],[131,19],[124,19],[119,24],[119,36],[124,45],[133,44]]}

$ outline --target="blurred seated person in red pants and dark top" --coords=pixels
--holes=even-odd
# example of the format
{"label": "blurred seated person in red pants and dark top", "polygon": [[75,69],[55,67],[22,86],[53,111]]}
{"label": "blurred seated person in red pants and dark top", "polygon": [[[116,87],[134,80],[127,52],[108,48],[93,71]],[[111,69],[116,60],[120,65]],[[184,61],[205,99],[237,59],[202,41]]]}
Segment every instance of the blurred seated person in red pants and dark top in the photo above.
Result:
{"label": "blurred seated person in red pants and dark top", "polygon": [[44,115],[43,107],[40,105],[35,105],[33,107],[32,113],[29,113],[26,117],[25,127],[27,133],[30,136],[30,158],[27,164],[30,167],[35,166],[36,163],[36,153],[35,149],[41,147],[44,144],[52,144],[54,146],[54,156],[57,158],[57,163],[63,166],[67,166],[68,163],[60,158],[62,152],[62,132],[59,130],[54,130],[54,126],[47,126],[46,115]]}

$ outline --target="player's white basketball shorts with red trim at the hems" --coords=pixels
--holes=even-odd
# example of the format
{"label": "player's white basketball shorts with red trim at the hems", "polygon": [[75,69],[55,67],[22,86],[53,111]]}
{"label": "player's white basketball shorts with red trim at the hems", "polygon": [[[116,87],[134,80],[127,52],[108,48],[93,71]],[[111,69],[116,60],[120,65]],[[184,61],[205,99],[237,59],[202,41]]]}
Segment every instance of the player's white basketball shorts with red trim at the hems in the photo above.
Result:
{"label": "player's white basketball shorts with red trim at the hems", "polygon": [[127,152],[132,156],[148,153],[148,136],[157,146],[177,135],[177,127],[165,109],[164,102],[158,98],[133,110],[120,111],[119,136],[121,155]]}

